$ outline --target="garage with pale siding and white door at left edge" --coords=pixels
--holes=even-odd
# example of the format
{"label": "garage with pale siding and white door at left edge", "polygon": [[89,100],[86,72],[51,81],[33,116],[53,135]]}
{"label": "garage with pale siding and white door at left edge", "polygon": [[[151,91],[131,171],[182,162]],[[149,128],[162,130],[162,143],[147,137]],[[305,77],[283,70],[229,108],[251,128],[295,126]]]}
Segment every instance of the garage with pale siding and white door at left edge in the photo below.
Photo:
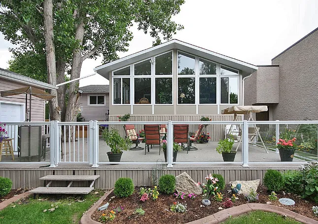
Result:
{"label": "garage with pale siding and white door at left edge", "polygon": [[[7,91],[32,86],[40,90],[58,89],[58,87],[19,75],[0,68],[0,91]],[[29,108],[29,96],[28,96]],[[45,101],[33,97],[31,101],[32,121],[45,121]],[[26,119],[25,94],[12,97],[0,96],[0,122],[19,122]]]}

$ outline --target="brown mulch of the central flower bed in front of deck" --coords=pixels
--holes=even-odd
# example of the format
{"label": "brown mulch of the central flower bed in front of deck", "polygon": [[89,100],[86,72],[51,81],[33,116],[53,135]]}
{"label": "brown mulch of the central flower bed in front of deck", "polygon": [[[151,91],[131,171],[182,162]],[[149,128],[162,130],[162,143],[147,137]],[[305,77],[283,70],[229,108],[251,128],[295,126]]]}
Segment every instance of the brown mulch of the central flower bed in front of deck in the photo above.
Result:
{"label": "brown mulch of the central flower bed in front of deck", "polygon": [[[230,193],[227,193],[227,189],[229,189],[229,187],[225,188],[222,191],[222,193],[224,194],[224,198],[231,196]],[[159,198],[156,201],[149,199],[145,202],[142,202],[139,200],[140,198],[138,192],[139,187],[135,187],[135,192],[131,196],[127,198],[115,197],[114,199],[109,201],[109,199],[112,196],[114,196],[114,193],[112,192],[101,204],[104,205],[107,202],[109,202],[110,205],[108,209],[104,211],[96,210],[95,213],[92,215],[92,219],[99,222],[99,217],[103,213],[109,214],[109,211],[111,209],[116,208],[118,206],[124,206],[124,211],[119,214],[116,214],[116,218],[113,221],[116,224],[185,224],[217,213],[221,211],[219,207],[222,207],[222,202],[217,202],[213,200],[211,201],[210,206],[200,207],[202,200],[201,196],[198,196],[195,199],[185,198],[182,200],[174,197],[173,194],[160,194]],[[256,203],[266,204],[266,202],[270,201],[268,199],[269,193],[267,192],[266,187],[260,185],[257,189],[257,193],[259,193],[259,200]],[[278,198],[290,198],[295,201],[295,205],[286,206],[282,205],[279,201],[270,201],[271,205],[276,205],[282,208],[289,209],[290,211],[296,212],[300,215],[318,221],[318,217],[316,217],[312,212],[312,207],[316,206],[314,202],[306,202],[304,199],[301,199],[298,195],[288,193],[284,195],[282,192],[277,193],[277,196]],[[238,195],[238,198],[239,199],[233,203],[233,207],[247,203],[243,195]],[[173,204],[173,202],[175,201],[179,201],[180,203],[186,202],[188,207],[187,212],[182,214],[169,211],[170,205]],[[142,209],[146,212],[144,216],[133,214],[134,210],[139,206],[141,206]]]}

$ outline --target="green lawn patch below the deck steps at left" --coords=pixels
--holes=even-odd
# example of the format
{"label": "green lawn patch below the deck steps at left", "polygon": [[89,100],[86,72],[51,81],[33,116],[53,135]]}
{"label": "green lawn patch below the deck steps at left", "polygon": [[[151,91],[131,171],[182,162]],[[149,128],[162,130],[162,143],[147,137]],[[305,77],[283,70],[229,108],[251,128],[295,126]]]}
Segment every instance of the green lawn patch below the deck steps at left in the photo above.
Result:
{"label": "green lawn patch below the deck steps at left", "polygon": [[[94,192],[83,198],[68,197],[54,200],[54,197],[49,197],[40,199],[41,201],[30,198],[27,203],[15,203],[15,207],[9,205],[0,211],[0,224],[77,224],[83,213],[103,195],[103,191],[99,191],[98,194]],[[53,212],[43,212],[52,206],[58,207]]]}

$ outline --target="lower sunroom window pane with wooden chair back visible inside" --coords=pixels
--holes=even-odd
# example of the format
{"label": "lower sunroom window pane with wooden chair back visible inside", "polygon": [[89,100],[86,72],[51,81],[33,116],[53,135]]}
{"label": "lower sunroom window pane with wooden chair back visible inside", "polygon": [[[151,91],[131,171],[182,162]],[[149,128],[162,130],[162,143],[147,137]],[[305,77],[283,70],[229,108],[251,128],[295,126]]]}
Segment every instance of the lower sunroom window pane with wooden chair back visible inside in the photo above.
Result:
{"label": "lower sunroom window pane with wooden chair back visible inside", "polygon": [[134,78],[135,104],[151,104],[151,78]]}

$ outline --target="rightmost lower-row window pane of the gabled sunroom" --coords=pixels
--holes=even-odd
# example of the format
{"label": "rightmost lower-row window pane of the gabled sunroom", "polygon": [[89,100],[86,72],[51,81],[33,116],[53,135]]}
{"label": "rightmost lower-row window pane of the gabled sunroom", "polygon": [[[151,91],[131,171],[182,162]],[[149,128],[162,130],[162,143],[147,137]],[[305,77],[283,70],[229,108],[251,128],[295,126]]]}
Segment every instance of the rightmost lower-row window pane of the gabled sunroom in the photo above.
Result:
{"label": "rightmost lower-row window pane of the gabled sunroom", "polygon": [[238,77],[221,77],[221,104],[238,104]]}

